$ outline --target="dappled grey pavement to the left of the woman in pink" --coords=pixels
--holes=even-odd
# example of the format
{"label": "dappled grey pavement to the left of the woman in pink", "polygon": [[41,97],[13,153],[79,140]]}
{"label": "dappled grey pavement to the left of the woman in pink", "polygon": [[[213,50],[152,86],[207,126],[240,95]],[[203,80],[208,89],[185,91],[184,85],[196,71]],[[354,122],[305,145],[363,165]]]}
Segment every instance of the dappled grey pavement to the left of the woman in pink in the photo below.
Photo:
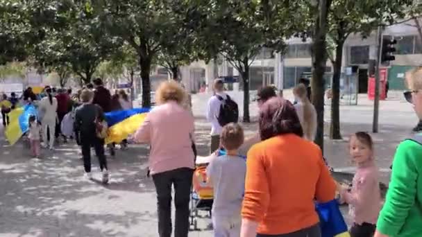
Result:
{"label": "dappled grey pavement to the left of the woman in pink", "polygon": [[[155,223],[155,205],[133,205],[155,194],[142,146],[108,157],[109,185],[83,178],[73,143],[42,150],[42,159],[31,159],[22,142],[0,147],[0,236],[139,236],[130,227]],[[94,155],[92,167],[99,177]]]}

